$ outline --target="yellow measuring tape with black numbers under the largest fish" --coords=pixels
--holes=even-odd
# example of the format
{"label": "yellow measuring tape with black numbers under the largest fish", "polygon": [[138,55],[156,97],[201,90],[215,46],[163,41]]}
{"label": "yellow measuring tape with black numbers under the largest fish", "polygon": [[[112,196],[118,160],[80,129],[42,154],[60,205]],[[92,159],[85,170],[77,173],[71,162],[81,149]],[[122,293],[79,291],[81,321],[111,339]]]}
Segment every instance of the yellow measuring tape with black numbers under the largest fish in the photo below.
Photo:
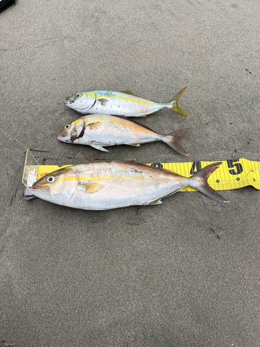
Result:
{"label": "yellow measuring tape with black numbers under the largest fish", "polygon": [[[216,161],[214,161],[216,162]],[[185,177],[191,177],[195,172],[206,167],[213,162],[155,162],[153,167],[161,167],[180,174]],[[215,190],[229,190],[246,187],[252,185],[256,189],[260,189],[260,162],[251,162],[246,159],[224,160],[222,165],[207,180],[211,188]],[[69,167],[71,165],[39,165],[37,172],[37,180],[50,172]],[[180,192],[192,192],[196,189],[185,187]]]}

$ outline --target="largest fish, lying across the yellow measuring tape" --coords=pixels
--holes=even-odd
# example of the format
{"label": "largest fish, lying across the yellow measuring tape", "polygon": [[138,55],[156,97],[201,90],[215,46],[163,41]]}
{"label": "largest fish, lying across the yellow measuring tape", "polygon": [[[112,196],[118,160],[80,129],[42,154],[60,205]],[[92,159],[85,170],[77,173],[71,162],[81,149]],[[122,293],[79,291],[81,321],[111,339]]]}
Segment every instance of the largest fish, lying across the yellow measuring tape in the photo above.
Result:
{"label": "largest fish, lying across the yellow measuring tape", "polygon": [[132,205],[157,205],[187,185],[228,203],[207,178],[221,162],[204,167],[190,178],[132,160],[93,162],[51,172],[33,185],[33,195],[51,203],[82,210],[110,210]]}

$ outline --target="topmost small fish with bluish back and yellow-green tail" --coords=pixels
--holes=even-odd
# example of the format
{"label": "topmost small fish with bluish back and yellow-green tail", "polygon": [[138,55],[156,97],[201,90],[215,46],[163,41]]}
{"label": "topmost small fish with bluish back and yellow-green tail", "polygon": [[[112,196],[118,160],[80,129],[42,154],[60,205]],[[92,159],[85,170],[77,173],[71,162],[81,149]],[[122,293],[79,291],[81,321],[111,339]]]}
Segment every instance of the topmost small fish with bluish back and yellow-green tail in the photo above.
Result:
{"label": "topmost small fish with bluish back and yellow-green tail", "polygon": [[83,115],[121,115],[125,117],[146,117],[150,113],[170,108],[173,112],[189,117],[188,113],[180,108],[178,101],[180,96],[187,90],[185,87],[168,103],[156,103],[142,99],[134,95],[130,90],[127,92],[110,92],[108,90],[94,90],[72,94],[66,98],[65,104]]}

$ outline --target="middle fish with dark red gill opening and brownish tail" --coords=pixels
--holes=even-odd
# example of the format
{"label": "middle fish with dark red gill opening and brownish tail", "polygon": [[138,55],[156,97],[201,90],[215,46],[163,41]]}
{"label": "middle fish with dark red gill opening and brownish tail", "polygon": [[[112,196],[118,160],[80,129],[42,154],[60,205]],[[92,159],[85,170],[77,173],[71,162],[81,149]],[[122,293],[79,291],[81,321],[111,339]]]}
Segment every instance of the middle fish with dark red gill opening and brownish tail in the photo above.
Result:
{"label": "middle fish with dark red gill opening and brownish tail", "polygon": [[189,128],[176,130],[168,135],[159,135],[150,128],[123,116],[87,115],[67,124],[58,134],[58,139],[71,144],[87,144],[106,151],[104,147],[118,144],[140,146],[148,142],[163,141],[175,151],[187,155],[177,137]]}

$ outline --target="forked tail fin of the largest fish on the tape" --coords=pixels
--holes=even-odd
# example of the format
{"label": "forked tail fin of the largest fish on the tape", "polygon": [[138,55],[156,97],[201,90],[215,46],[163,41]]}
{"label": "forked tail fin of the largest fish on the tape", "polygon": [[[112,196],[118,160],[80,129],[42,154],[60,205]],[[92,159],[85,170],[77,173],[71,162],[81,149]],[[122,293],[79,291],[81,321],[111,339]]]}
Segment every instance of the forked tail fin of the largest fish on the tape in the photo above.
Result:
{"label": "forked tail fin of the largest fish on the tape", "polygon": [[196,174],[189,178],[189,180],[191,180],[189,185],[197,189],[200,193],[209,196],[209,198],[213,198],[221,203],[229,203],[229,201],[223,198],[223,196],[216,192],[216,190],[209,187],[209,184],[207,183],[207,178],[209,175],[218,169],[221,164],[222,162],[214,162],[213,164],[209,164],[207,167],[204,167],[200,171],[196,172]]}

